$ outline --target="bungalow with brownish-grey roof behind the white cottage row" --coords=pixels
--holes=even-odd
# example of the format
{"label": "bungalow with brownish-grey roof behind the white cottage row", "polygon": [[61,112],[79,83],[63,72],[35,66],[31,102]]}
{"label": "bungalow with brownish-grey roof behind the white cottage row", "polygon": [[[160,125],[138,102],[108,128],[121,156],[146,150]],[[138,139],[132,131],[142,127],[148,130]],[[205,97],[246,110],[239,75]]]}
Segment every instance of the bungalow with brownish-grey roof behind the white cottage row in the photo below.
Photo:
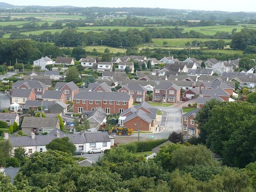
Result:
{"label": "bungalow with brownish-grey roof behind the white cottage row", "polygon": [[59,127],[59,119],[53,117],[24,117],[21,124],[21,130],[24,134],[49,133],[54,128],[59,129]]}

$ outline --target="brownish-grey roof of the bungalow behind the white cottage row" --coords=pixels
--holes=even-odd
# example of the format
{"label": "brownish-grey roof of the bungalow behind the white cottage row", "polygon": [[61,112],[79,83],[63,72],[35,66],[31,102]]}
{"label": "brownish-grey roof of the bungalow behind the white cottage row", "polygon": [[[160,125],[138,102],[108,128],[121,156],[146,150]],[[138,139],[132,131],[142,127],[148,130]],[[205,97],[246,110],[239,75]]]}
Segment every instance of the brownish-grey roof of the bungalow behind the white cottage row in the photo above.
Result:
{"label": "brownish-grey roof of the bungalow behind the white cottage row", "polygon": [[21,128],[56,128],[58,118],[50,117],[24,117]]}

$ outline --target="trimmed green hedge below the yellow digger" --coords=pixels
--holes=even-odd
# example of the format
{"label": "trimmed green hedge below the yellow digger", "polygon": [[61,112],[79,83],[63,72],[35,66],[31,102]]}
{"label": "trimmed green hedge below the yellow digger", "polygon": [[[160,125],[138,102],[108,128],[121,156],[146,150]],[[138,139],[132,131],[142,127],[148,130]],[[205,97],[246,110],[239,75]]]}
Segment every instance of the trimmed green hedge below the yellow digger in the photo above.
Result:
{"label": "trimmed green hedge below the yellow digger", "polygon": [[127,149],[130,152],[144,152],[150,151],[153,148],[157,147],[160,144],[163,144],[167,139],[156,139],[156,140],[149,140],[149,141],[140,141],[140,142],[131,142],[129,144],[120,145]]}

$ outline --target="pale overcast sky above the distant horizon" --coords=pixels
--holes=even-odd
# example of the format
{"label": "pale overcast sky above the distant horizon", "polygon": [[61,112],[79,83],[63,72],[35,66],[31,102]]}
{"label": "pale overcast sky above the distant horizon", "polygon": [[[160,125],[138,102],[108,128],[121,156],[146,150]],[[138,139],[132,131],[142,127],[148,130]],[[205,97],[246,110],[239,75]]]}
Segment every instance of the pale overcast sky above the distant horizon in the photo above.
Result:
{"label": "pale overcast sky above the distant horizon", "polygon": [[256,11],[256,0],[0,0],[13,5],[80,7],[159,7],[209,11]]}

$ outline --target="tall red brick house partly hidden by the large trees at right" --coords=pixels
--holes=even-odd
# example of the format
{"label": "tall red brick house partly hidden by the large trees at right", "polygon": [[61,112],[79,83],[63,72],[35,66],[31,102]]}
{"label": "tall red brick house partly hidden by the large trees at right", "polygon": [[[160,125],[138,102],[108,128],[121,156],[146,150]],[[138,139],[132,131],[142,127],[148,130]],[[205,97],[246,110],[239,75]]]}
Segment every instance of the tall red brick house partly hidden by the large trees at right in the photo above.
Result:
{"label": "tall red brick house partly hidden by the large trees at right", "polygon": [[195,121],[195,117],[199,108],[194,109],[191,112],[187,112],[182,115],[182,133],[183,135],[197,135],[197,122]]}

